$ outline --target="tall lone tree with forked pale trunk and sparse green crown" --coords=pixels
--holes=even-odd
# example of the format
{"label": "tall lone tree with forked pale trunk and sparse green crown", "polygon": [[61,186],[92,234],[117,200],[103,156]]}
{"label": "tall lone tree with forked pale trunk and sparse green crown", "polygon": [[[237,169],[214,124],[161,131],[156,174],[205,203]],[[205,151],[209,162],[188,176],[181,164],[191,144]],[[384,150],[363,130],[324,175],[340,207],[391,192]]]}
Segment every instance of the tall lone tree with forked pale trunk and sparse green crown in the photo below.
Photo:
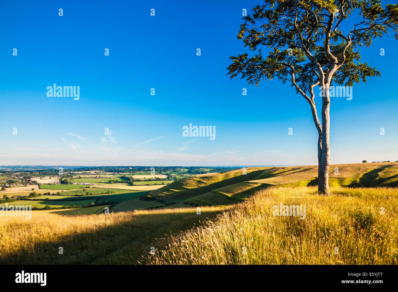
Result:
{"label": "tall lone tree with forked pale trunk and sparse green crown", "polygon": [[[277,77],[291,82],[308,101],[318,131],[318,192],[330,195],[330,89],[380,76],[376,68],[360,62],[359,49],[390,30],[398,39],[398,5],[382,8],[378,0],[265,0],[243,19],[238,39],[256,53],[231,56],[228,75],[240,75],[257,86]],[[261,53],[264,46],[271,48],[267,56]],[[321,121],[314,88],[322,96]]]}

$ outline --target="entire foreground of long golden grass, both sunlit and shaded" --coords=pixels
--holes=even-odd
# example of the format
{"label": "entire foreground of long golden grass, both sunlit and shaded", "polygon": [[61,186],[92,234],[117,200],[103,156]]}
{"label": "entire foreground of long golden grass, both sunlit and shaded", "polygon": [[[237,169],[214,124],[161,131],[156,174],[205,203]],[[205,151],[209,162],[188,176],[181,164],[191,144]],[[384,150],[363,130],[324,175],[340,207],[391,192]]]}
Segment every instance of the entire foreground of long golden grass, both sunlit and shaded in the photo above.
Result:
{"label": "entire foreground of long golden grass, both sunlit and shaded", "polygon": [[[331,191],[323,197],[316,187],[272,187],[244,203],[201,207],[201,215],[176,208],[0,217],[0,263],[398,264],[397,189]],[[280,203],[305,205],[306,218],[273,216]]]}

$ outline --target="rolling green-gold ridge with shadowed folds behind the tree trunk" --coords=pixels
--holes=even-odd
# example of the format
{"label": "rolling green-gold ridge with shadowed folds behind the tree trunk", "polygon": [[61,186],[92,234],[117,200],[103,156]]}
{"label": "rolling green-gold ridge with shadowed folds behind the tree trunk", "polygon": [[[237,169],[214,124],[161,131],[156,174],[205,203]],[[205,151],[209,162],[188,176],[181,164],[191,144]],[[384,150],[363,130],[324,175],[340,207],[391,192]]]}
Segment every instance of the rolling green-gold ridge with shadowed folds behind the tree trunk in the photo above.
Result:
{"label": "rolling green-gold ridge with shadowed folds behind the tree trunk", "polygon": [[[332,164],[329,169],[331,187],[398,186],[398,162]],[[318,166],[254,167],[246,175],[240,169],[185,178],[149,195],[178,201],[169,208],[228,205],[270,186],[315,186],[317,176]]]}

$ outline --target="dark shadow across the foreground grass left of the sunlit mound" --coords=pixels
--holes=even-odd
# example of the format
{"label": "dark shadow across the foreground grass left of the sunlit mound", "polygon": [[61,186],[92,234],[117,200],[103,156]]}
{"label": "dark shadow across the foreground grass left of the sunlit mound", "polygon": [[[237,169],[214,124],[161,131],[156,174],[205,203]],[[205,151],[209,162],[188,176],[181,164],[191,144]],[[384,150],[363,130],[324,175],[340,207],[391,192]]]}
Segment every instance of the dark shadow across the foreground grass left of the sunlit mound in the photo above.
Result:
{"label": "dark shadow across the foreground grass left of the sunlit mound", "polygon": [[[142,255],[148,255],[154,238],[187,230],[220,212],[202,211],[197,215],[193,208],[192,213],[133,214],[131,220],[115,226],[67,235],[58,241],[37,243],[29,250],[5,254],[0,257],[0,264],[136,264]],[[63,254],[59,254],[60,247]]]}

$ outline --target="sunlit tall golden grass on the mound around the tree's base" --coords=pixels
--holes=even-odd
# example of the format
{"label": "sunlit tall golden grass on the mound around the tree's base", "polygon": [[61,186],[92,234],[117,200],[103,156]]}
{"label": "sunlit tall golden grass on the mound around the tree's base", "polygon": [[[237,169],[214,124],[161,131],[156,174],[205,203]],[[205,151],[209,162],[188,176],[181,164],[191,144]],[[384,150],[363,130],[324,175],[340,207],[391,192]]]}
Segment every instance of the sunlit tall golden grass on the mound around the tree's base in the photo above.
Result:
{"label": "sunlit tall golden grass on the mound around the tree's base", "polygon": [[[395,188],[270,188],[203,226],[158,241],[152,264],[398,263]],[[273,206],[306,205],[306,219]],[[380,214],[384,208],[384,215]],[[336,247],[338,253],[335,254]]]}

